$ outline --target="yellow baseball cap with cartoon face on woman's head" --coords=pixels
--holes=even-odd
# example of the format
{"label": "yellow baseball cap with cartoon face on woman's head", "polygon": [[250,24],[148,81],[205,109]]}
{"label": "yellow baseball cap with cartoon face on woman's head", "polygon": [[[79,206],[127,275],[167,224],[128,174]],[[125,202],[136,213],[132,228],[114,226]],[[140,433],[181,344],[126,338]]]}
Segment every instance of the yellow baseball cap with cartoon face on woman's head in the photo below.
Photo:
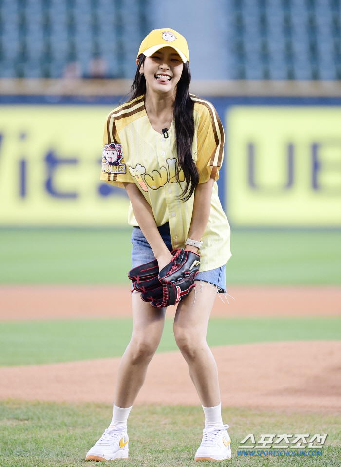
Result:
{"label": "yellow baseball cap with cartoon face on woman's head", "polygon": [[174,31],[174,29],[170,28],[153,29],[142,41],[137,57],[140,54],[150,57],[157,50],[167,46],[176,50],[184,63],[187,61],[189,62],[189,51],[186,39],[184,36]]}

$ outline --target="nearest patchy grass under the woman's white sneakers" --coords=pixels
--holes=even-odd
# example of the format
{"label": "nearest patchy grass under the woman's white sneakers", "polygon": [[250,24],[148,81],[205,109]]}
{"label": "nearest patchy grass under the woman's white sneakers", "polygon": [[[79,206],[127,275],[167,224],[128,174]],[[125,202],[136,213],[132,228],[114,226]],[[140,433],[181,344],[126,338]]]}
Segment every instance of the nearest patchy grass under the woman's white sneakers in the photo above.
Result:
{"label": "nearest patchy grass under the woman's white sneakers", "polygon": [[[85,462],[87,450],[111,419],[103,404],[0,403],[2,467],[123,466],[126,461]],[[284,414],[225,408],[230,425],[232,459],[221,466],[336,467],[341,458],[340,418],[326,414]],[[135,406],[129,418],[129,466],[198,466],[195,451],[203,428],[201,407]],[[237,449],[247,434],[328,433],[322,457],[240,457]],[[306,449],[308,452],[308,449]],[[200,465],[211,465],[208,462]]]}

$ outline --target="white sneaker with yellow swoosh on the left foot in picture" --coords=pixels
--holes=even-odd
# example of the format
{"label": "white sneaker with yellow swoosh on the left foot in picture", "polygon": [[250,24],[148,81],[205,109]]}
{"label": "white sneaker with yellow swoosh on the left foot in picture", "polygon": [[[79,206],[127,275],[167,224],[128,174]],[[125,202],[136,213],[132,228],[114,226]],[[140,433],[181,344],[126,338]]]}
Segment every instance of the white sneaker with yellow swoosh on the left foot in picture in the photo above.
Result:
{"label": "white sneaker with yellow swoosh on the left foot in picture", "polygon": [[111,425],[87,453],[85,460],[111,461],[113,459],[128,459],[128,441],[127,426]]}

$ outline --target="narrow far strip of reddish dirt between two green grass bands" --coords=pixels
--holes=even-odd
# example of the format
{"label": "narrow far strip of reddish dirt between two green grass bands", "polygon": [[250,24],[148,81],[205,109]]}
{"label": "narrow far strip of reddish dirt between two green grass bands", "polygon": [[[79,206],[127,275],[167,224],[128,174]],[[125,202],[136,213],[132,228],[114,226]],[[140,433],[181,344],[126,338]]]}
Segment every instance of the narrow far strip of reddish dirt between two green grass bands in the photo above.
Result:
{"label": "narrow far strip of reddish dirt between two green grass bands", "polygon": [[[341,316],[341,287],[231,286],[212,316]],[[130,286],[3,285],[0,320],[131,317]],[[170,306],[167,316],[175,314]]]}

